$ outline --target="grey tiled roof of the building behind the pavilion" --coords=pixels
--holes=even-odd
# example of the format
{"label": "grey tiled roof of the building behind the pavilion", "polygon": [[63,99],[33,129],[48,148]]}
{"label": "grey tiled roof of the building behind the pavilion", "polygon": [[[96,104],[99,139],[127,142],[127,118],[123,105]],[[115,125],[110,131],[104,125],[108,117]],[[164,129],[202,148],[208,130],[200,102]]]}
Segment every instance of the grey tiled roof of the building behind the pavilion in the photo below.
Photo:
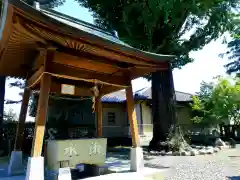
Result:
{"label": "grey tiled roof of the building behind the pavilion", "polygon": [[[177,102],[189,102],[192,101],[192,94],[175,91]],[[135,100],[144,100],[152,98],[152,88],[143,88],[134,93]],[[117,91],[102,97],[102,102],[124,102],[126,100],[125,91]]]}

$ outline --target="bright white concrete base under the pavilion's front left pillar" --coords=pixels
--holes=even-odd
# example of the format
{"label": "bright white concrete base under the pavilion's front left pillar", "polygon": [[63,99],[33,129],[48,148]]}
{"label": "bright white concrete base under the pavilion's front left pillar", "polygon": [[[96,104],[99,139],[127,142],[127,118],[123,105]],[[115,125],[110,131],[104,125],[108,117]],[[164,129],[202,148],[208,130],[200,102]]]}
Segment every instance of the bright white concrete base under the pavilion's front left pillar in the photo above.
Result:
{"label": "bright white concrete base under the pavilion's front left pillar", "polygon": [[29,157],[25,180],[44,180],[44,158]]}

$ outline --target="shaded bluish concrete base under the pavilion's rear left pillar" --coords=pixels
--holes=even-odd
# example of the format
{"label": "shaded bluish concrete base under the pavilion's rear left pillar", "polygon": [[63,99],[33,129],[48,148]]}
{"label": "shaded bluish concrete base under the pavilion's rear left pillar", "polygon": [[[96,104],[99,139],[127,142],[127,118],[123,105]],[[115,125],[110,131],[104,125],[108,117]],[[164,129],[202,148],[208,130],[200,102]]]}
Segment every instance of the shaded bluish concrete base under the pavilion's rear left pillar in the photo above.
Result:
{"label": "shaded bluish concrete base under the pavilion's rear left pillar", "polygon": [[12,151],[8,165],[8,175],[18,175],[22,173],[24,173],[22,151]]}

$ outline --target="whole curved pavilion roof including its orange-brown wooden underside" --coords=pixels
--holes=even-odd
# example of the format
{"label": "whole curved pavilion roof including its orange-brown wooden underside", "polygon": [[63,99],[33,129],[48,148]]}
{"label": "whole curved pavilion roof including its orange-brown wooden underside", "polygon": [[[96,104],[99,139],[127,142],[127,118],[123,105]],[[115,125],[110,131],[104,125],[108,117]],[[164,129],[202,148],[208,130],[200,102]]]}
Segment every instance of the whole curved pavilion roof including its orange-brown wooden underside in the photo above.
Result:
{"label": "whole curved pavilion roof including its orange-brown wooden underside", "polygon": [[105,29],[54,10],[35,9],[20,0],[3,2],[0,23],[3,76],[32,76],[42,66],[41,53],[48,48],[55,50],[52,74],[97,79],[109,86],[117,83],[126,87],[126,76],[132,80],[166,70],[168,61],[174,59],[136,49]]}

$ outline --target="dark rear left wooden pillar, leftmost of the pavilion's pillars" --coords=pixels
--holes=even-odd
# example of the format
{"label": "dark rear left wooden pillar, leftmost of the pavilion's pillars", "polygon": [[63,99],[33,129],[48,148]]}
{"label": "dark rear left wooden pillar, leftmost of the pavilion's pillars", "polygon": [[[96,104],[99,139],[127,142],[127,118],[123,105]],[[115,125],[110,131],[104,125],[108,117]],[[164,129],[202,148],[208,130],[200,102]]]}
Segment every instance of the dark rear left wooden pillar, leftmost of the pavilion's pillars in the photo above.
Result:
{"label": "dark rear left wooden pillar, leftmost of the pavilion's pillars", "polygon": [[24,93],[23,93],[23,100],[22,100],[19,121],[17,125],[15,144],[14,144],[14,151],[22,150],[22,143],[24,138],[24,125],[26,121],[30,93],[31,93],[31,90],[27,88],[24,90]]}

